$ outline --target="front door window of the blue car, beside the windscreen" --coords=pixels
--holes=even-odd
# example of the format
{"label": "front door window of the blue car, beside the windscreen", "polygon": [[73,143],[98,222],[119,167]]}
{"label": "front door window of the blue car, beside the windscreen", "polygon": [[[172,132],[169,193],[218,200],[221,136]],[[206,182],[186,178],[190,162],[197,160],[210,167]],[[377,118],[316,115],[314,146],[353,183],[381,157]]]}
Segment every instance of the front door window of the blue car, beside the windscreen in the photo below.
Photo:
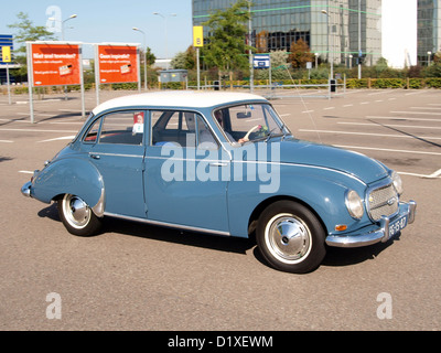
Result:
{"label": "front door window of the blue car, beside the windscreen", "polygon": [[175,145],[217,149],[216,140],[201,115],[193,111],[151,111],[152,146]]}

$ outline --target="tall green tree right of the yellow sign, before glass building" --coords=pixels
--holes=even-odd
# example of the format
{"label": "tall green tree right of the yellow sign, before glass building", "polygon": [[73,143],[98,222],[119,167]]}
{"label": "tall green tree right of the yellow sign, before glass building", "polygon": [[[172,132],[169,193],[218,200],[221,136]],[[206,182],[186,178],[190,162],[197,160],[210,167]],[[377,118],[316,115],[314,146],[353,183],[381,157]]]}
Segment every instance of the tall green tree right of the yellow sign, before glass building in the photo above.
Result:
{"label": "tall green tree right of the yellow sign, before glass building", "polygon": [[248,51],[251,46],[246,44],[249,20],[249,2],[239,0],[229,9],[209,15],[203,25],[209,28],[211,35],[207,44],[202,50],[202,56],[207,65],[216,66],[219,79],[223,75],[233,74],[233,69],[245,68],[248,65]]}

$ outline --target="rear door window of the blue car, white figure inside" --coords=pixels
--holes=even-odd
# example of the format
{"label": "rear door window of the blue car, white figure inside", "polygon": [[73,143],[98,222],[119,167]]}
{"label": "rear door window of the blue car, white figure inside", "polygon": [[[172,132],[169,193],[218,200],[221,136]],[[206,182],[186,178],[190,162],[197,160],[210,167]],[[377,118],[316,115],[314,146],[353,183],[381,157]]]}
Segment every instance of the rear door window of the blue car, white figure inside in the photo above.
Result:
{"label": "rear door window of the blue car, white figure inside", "polygon": [[99,143],[142,145],[144,111],[110,113],[103,119]]}

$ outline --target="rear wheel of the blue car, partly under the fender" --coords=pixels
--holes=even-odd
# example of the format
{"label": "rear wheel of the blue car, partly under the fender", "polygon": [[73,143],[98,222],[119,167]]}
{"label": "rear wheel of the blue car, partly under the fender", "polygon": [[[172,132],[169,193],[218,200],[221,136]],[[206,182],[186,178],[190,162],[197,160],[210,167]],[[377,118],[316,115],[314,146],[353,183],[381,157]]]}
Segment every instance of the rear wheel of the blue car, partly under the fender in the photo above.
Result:
{"label": "rear wheel of the blue car, partly under the fender", "polygon": [[64,226],[74,235],[94,235],[101,225],[88,204],[76,195],[65,194],[57,201],[57,206]]}

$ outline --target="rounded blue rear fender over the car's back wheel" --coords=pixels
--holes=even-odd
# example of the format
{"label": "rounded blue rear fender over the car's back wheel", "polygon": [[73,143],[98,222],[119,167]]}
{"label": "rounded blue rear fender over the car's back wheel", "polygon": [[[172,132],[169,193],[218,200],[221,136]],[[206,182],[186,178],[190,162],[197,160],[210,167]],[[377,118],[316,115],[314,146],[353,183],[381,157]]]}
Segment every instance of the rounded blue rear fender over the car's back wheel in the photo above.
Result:
{"label": "rounded blue rear fender over the car's back wheel", "polygon": [[50,203],[62,194],[82,197],[97,216],[103,216],[104,182],[89,161],[78,157],[55,160],[35,175],[31,186],[32,197]]}

